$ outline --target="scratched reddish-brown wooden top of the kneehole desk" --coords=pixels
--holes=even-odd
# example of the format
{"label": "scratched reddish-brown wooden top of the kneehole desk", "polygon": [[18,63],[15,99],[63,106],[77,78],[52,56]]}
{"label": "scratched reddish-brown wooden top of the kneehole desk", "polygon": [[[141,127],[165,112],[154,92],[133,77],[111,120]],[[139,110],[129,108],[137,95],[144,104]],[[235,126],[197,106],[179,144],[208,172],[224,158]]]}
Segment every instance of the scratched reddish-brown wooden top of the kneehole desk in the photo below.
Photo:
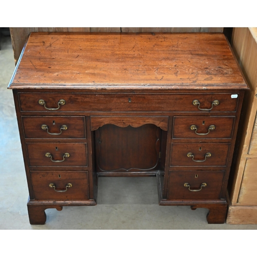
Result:
{"label": "scratched reddish-brown wooden top of the kneehole desk", "polygon": [[247,89],[222,33],[31,33],[10,89]]}

